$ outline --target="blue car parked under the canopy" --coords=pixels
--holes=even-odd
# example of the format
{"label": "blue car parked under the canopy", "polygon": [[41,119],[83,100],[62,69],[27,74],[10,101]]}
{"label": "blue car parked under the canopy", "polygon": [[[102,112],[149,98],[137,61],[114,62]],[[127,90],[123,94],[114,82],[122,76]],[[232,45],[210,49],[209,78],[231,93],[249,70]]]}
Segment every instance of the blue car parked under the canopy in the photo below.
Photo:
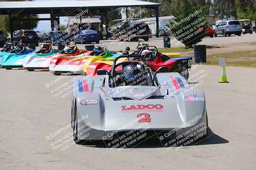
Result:
{"label": "blue car parked under the canopy", "polygon": [[92,29],[86,29],[86,30],[82,30],[80,32],[80,34],[77,34],[74,36],[74,39],[77,43],[99,43],[100,39],[99,39],[99,34],[97,31],[94,31]]}

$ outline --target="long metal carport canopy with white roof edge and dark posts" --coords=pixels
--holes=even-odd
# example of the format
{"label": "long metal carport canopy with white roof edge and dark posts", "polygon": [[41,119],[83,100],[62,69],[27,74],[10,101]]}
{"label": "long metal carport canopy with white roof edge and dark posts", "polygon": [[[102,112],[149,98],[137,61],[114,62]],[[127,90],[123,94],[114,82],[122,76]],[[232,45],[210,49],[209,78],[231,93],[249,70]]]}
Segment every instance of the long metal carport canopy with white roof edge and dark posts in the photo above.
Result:
{"label": "long metal carport canopy with white roof edge and dark posts", "polygon": [[[108,10],[120,7],[141,7],[156,10],[157,30],[159,30],[159,6],[161,3],[151,3],[137,0],[88,0],[88,1],[1,1],[0,15],[10,16],[10,30],[12,30],[12,15],[17,14],[51,14],[51,25],[54,25],[54,18],[60,16],[74,16],[79,10],[88,9],[90,15],[102,15],[105,17],[105,24],[108,25]],[[30,19],[30,17],[29,17]],[[34,19],[35,20],[35,19]],[[40,19],[38,19],[40,20]],[[52,26],[53,28],[53,26]],[[11,33],[12,36],[12,33]],[[157,34],[158,36],[158,34]]]}

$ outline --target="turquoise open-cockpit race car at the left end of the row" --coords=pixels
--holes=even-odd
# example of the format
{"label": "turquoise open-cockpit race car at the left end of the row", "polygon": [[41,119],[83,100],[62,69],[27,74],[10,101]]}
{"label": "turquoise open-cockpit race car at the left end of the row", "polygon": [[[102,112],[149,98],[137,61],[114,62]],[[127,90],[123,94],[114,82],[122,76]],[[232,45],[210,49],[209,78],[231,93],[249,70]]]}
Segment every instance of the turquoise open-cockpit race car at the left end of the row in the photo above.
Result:
{"label": "turquoise open-cockpit race car at the left end of the row", "polygon": [[23,61],[28,53],[34,52],[32,49],[26,48],[24,44],[19,44],[15,48],[3,55],[1,66],[5,69],[12,69],[13,67],[22,67]]}

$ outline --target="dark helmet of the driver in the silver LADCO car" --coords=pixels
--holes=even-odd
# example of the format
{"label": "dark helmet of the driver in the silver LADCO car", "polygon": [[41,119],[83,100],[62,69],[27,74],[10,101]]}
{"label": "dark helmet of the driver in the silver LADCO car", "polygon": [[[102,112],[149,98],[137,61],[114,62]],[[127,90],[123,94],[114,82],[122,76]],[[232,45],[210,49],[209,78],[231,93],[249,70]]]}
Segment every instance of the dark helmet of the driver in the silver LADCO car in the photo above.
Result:
{"label": "dark helmet of the driver in the silver LADCO car", "polygon": [[141,66],[141,64],[132,63],[128,66],[125,66],[123,69],[123,72],[125,74],[125,79],[129,80],[136,76],[137,74],[141,73],[141,71],[144,70],[144,66]]}

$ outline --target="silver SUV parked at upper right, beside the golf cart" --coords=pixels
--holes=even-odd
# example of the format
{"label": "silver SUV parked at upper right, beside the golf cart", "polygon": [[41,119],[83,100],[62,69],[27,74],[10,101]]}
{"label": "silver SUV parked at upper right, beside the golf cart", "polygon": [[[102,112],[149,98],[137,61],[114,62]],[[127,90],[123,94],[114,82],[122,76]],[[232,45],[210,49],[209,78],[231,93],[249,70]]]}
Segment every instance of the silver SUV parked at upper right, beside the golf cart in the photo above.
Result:
{"label": "silver SUV parked at upper right, beside the golf cart", "polygon": [[214,36],[218,36],[218,34],[223,36],[231,36],[231,34],[241,36],[242,26],[238,20],[218,21],[218,24],[215,25]]}

